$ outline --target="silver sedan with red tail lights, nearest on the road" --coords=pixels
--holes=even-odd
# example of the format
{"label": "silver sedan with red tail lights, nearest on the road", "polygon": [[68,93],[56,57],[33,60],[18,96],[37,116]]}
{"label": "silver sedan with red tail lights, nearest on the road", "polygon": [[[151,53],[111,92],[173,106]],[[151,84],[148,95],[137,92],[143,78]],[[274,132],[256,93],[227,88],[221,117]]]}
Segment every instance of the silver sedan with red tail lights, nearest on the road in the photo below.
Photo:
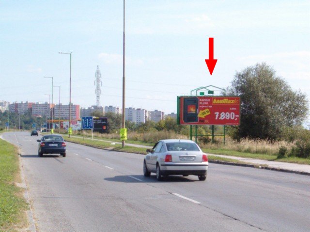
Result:
{"label": "silver sedan with red tail lights, nearest on the road", "polygon": [[158,141],[143,161],[143,174],[156,174],[157,180],[167,175],[198,175],[205,180],[208,170],[208,157],[200,147],[191,140],[166,139]]}

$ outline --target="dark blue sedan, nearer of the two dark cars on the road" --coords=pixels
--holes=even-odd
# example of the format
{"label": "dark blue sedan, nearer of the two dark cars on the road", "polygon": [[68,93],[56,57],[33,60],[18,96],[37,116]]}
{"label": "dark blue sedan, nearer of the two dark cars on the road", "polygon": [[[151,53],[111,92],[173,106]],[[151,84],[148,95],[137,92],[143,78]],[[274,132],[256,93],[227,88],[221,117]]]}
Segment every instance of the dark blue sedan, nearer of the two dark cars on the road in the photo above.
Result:
{"label": "dark blue sedan, nearer of the two dark cars on the road", "polygon": [[61,135],[49,134],[44,135],[39,142],[39,157],[43,157],[43,154],[61,154],[62,157],[66,157],[66,143]]}

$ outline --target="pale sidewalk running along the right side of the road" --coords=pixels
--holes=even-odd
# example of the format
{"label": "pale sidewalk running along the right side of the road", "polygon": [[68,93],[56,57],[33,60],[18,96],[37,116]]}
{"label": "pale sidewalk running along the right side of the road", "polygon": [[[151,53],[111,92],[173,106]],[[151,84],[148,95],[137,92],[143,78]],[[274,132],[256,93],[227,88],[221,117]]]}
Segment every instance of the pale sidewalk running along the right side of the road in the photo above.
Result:
{"label": "pale sidewalk running along the right side of the road", "polygon": [[[74,136],[74,135],[71,135],[71,137],[81,138],[79,136]],[[86,137],[85,139],[92,139],[92,138]],[[109,140],[102,140],[102,139],[93,139],[93,140],[103,141],[103,142],[107,142],[107,143],[114,143],[114,144],[122,144],[120,142],[112,142]],[[142,148],[146,148],[146,149],[152,148],[152,146],[128,144],[128,143],[126,143],[126,146],[142,147]],[[208,154],[208,155],[228,158],[228,159],[232,159],[232,160],[239,160],[239,161],[245,163],[245,165],[240,164],[240,166],[258,167],[258,168],[269,169],[269,170],[276,170],[276,171],[282,171],[282,172],[291,172],[291,173],[297,173],[297,174],[310,175],[310,165],[307,165],[307,164],[287,163],[287,162],[268,161],[268,160],[257,160],[257,159],[251,159],[251,158],[215,155],[215,154]],[[210,161],[210,163],[213,163],[213,161]],[[224,162],[224,161],[215,161],[214,163],[233,164],[233,163]],[[252,165],[248,165],[248,164],[252,164]],[[234,165],[237,165],[237,164],[234,164]]]}

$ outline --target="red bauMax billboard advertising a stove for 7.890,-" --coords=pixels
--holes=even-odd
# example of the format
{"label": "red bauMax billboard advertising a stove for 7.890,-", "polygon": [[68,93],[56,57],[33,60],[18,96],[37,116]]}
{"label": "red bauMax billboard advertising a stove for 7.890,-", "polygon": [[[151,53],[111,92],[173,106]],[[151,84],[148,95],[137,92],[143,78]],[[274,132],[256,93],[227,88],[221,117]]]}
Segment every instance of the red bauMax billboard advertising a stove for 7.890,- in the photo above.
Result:
{"label": "red bauMax billboard advertising a stove for 7.890,-", "polygon": [[240,125],[240,97],[180,96],[182,125]]}

